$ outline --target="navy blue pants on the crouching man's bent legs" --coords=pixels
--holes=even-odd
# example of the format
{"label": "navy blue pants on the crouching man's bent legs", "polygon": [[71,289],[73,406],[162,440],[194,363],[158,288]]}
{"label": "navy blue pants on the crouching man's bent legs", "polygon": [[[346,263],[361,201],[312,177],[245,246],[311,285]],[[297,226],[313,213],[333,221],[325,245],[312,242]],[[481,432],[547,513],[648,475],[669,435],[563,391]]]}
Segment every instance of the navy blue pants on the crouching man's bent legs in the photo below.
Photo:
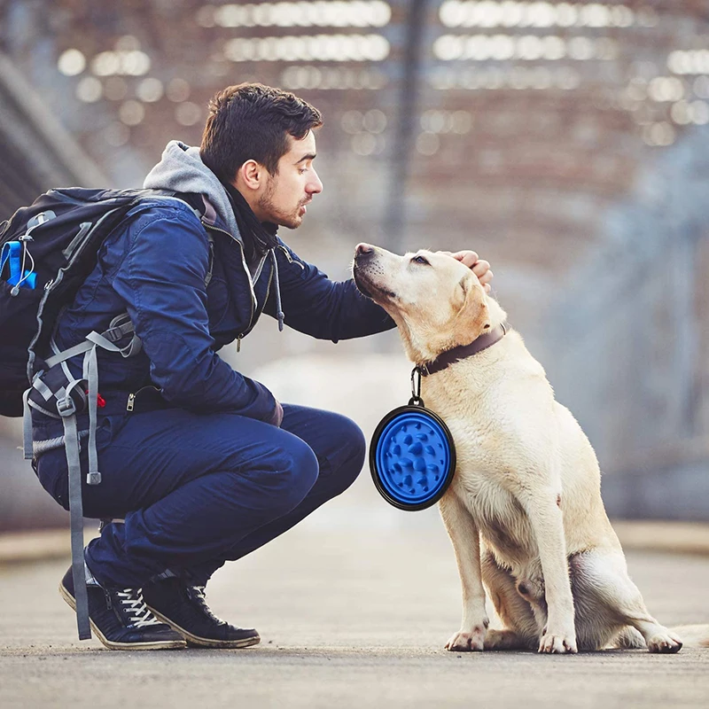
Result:
{"label": "navy blue pants on the crouching man's bent legs", "polygon": [[[84,485],[84,514],[125,524],[106,526],[86,560],[99,582],[120,588],[141,588],[168,569],[205,584],[226,560],[346,490],[364,462],[353,421],[287,404],[281,428],[183,409],[136,414],[110,428],[107,419],[98,432],[103,479]],[[63,457],[63,448],[40,456],[37,474],[66,506]]]}

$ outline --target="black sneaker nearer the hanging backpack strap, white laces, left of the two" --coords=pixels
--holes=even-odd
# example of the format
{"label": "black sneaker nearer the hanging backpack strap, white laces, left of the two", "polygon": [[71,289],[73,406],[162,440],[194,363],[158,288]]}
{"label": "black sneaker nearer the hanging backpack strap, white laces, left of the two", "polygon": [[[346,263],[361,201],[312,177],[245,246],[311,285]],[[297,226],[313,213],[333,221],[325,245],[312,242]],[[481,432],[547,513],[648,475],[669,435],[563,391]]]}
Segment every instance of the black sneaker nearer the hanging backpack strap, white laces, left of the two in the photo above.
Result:
{"label": "black sneaker nearer the hanging backpack strap, white laces, left of the two", "polygon": [[[179,650],[186,646],[179,633],[160,623],[147,609],[139,588],[109,590],[88,585],[89,620],[97,638],[111,650]],[[74,611],[71,567],[59,583],[59,593]]]}

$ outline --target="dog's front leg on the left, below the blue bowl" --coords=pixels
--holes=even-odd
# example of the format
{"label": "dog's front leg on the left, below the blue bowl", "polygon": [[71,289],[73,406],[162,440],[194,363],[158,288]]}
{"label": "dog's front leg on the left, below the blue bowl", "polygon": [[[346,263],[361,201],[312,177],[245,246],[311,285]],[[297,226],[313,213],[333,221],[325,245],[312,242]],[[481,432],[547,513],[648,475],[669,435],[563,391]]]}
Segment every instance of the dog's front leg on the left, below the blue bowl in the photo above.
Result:
{"label": "dog's front leg on the left, below the blue bowl", "polygon": [[463,586],[463,622],[460,630],[446,643],[446,649],[480,651],[485,645],[488,619],[485,612],[485,588],[480,571],[478,526],[470,511],[452,489],[441,498],[439,509],[450,541],[453,542]]}

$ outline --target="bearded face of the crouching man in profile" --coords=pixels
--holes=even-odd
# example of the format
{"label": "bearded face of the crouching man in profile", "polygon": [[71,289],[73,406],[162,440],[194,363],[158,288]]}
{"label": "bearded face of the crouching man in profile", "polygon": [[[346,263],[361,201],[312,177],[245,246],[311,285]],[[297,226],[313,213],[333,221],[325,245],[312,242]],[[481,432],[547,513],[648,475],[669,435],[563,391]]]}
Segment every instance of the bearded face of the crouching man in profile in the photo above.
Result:
{"label": "bearded face of the crouching man in profile", "polygon": [[267,183],[254,213],[261,222],[272,222],[288,229],[298,229],[314,194],[323,191],[323,183],[313,168],[316,136],[309,130],[302,140],[288,136],[290,150],[278,161],[276,175]]}

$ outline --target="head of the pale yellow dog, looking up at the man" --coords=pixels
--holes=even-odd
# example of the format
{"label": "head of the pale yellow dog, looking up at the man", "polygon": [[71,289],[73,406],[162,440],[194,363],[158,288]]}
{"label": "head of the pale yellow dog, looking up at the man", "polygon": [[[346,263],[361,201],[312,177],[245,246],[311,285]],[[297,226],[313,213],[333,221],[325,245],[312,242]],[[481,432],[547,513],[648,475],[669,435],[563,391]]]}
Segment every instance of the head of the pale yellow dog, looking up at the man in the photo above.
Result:
{"label": "head of the pale yellow dog, looking up at the man", "polygon": [[468,345],[491,327],[485,289],[452,256],[423,250],[398,256],[359,244],[352,271],[360,291],[393,317],[413,362]]}

